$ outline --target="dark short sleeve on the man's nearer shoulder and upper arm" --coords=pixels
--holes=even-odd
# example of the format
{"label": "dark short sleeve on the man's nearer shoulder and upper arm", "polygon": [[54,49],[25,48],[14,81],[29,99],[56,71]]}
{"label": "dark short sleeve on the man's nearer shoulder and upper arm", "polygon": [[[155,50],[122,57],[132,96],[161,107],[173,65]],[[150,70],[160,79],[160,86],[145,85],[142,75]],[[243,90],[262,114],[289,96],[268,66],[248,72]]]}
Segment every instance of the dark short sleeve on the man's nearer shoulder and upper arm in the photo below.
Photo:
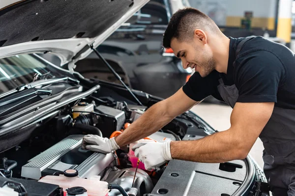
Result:
{"label": "dark short sleeve on the man's nearer shoulder and upper arm", "polygon": [[271,52],[251,52],[237,59],[237,102],[277,102],[277,91],[285,75],[281,61]]}

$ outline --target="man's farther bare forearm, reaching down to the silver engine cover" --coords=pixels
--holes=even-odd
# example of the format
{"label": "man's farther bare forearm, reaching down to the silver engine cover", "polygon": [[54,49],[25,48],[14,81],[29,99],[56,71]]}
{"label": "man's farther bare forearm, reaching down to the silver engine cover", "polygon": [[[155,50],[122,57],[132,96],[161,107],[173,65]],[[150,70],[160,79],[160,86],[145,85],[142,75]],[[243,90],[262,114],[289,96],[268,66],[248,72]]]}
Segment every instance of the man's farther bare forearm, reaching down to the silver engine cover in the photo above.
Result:
{"label": "man's farther bare forearm, reaching down to the silver engine cover", "polygon": [[174,117],[166,115],[166,108],[162,104],[158,102],[151,106],[138,120],[124,130],[116,138],[118,146],[122,147],[145,138],[172,121]]}

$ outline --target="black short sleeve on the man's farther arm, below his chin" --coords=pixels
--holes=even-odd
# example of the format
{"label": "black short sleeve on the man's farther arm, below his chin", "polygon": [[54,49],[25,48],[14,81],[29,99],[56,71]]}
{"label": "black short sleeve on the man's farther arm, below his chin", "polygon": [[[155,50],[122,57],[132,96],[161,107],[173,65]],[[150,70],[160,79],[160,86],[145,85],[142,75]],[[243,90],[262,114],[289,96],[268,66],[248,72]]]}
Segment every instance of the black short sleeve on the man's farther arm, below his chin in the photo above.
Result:
{"label": "black short sleeve on the man's farther arm, below his chin", "polygon": [[186,84],[182,87],[183,92],[195,101],[201,101],[214,92],[214,87],[218,85],[219,74],[213,71],[206,77],[200,73],[194,73]]}

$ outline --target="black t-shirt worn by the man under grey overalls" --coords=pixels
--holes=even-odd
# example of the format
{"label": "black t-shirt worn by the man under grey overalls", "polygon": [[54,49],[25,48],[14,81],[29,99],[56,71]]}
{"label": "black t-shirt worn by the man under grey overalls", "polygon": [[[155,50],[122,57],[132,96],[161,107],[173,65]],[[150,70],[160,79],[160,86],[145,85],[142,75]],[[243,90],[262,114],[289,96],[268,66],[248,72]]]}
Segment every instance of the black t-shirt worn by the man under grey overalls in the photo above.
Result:
{"label": "black t-shirt worn by the man under grey overalls", "polygon": [[259,36],[247,41],[236,57],[243,39],[230,38],[227,74],[213,71],[203,78],[196,72],[183,86],[184,93],[196,101],[209,95],[223,100],[217,90],[222,78],[225,85],[236,85],[237,102],[275,102],[277,107],[295,109],[295,54]]}

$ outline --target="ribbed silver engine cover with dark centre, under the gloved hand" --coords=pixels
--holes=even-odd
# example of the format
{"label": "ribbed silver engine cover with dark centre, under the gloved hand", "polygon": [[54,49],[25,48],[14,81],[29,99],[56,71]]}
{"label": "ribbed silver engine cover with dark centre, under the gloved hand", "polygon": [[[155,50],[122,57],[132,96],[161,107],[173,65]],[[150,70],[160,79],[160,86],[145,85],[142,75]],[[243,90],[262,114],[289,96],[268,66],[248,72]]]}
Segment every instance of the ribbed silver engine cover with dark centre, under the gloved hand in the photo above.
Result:
{"label": "ribbed silver engine cover with dark centre, under the gloved hand", "polygon": [[30,159],[22,167],[22,177],[39,180],[67,169],[75,169],[81,178],[98,175],[114,160],[114,154],[103,154],[81,147],[84,135],[70,135],[56,145]]}

